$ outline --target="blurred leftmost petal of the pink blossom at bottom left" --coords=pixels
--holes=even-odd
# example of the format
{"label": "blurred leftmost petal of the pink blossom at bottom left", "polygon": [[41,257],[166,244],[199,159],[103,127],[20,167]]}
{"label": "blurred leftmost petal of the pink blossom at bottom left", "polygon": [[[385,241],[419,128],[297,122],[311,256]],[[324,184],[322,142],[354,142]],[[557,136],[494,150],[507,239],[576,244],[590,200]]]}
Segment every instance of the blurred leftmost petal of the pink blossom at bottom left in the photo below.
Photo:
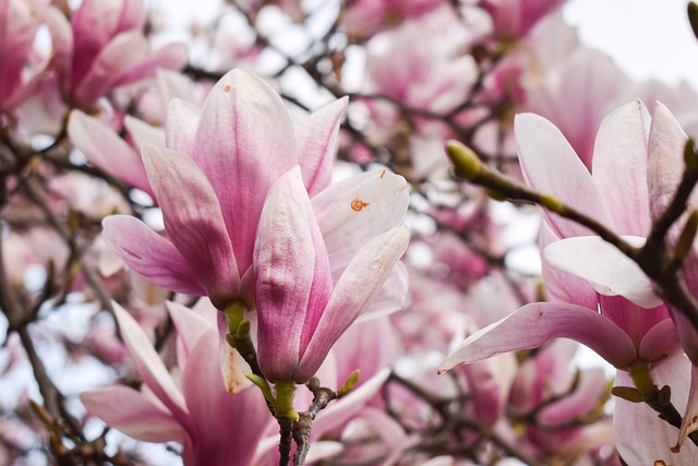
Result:
{"label": "blurred leftmost petal of the pink blossom at bottom left", "polygon": [[180,443],[186,439],[184,427],[171,413],[129,386],[115,385],[83,392],[80,399],[91,414],[134,439]]}

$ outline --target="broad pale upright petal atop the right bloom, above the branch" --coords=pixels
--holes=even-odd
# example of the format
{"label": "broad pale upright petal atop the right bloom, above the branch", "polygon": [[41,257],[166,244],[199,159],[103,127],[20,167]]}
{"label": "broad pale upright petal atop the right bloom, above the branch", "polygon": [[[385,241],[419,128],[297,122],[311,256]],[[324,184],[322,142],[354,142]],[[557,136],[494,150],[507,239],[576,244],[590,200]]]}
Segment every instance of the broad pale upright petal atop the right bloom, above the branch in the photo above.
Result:
{"label": "broad pale upright petal atop the right bloom, above the branch", "polygon": [[591,172],[621,235],[647,236],[649,230],[650,123],[645,105],[634,100],[610,113],[597,133]]}

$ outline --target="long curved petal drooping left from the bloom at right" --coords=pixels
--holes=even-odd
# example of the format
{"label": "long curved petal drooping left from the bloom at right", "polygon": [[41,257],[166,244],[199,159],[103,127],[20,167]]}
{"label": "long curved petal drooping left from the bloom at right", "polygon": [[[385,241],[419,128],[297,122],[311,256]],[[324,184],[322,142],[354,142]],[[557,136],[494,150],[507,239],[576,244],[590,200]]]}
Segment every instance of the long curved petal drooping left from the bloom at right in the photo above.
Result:
{"label": "long curved petal drooping left from the bloom at right", "polygon": [[616,368],[626,368],[637,359],[630,337],[598,312],[575,304],[534,302],[470,335],[444,359],[438,371],[537,348],[553,338],[581,343]]}

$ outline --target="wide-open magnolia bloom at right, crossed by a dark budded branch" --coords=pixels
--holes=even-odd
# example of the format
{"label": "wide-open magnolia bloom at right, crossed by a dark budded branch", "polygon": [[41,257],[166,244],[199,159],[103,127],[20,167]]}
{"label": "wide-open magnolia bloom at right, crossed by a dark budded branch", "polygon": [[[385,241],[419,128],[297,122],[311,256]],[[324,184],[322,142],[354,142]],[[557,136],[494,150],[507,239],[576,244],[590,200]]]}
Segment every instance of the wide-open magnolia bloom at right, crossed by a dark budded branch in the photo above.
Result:
{"label": "wide-open magnolia bloom at right, crossed by a dark budded branch", "polygon": [[[633,246],[641,246],[652,218],[650,196],[659,195],[648,177],[651,180],[652,169],[665,163],[652,162],[648,174],[648,160],[675,146],[681,147],[678,156],[683,154],[673,124],[661,104],[653,119],[639,100],[618,108],[599,129],[591,172],[563,134],[541,117],[517,116],[515,135],[531,188],[587,214]],[[543,215],[543,277],[554,302],[525,306],[471,335],[444,360],[443,370],[566,337],[615,366],[617,385],[633,386],[630,369],[648,367],[660,387],[671,386],[672,403],[678,409],[685,407],[690,363],[683,356],[671,310],[654,295],[650,280],[586,227],[546,211]],[[693,417],[693,404],[687,419]],[[638,432],[640,425],[648,428]],[[688,465],[698,454],[694,444],[673,453],[677,430],[642,403],[617,399],[614,429],[618,452],[628,464],[661,459]]]}

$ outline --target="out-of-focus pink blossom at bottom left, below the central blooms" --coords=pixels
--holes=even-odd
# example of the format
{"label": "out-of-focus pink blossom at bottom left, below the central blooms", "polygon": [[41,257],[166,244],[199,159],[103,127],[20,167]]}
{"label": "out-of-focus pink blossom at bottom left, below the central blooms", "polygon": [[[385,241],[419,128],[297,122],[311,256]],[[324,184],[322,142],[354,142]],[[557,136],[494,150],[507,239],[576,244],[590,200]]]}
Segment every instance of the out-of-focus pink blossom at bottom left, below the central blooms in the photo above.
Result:
{"label": "out-of-focus pink blossom at bottom left, below the central blooms", "polygon": [[264,397],[253,387],[228,393],[216,327],[181,304],[169,303],[168,310],[177,328],[179,377],[168,372],[143,330],[115,303],[121,335],[147,390],[98,389],[84,392],[83,404],[135,439],[179,442],[184,465],[250,464],[270,419]]}

